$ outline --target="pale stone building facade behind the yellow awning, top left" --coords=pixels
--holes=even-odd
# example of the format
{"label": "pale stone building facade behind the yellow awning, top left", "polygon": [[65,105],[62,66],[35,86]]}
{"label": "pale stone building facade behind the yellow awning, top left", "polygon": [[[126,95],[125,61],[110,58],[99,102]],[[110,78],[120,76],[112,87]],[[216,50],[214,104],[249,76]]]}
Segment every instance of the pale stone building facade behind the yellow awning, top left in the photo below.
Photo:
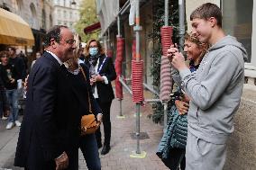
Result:
{"label": "pale stone building facade behind the yellow awning, top left", "polygon": [[52,0],[0,0],[0,4],[8,11],[21,16],[32,28],[35,45],[26,47],[28,52],[33,56],[36,51],[42,51],[43,36],[53,25]]}

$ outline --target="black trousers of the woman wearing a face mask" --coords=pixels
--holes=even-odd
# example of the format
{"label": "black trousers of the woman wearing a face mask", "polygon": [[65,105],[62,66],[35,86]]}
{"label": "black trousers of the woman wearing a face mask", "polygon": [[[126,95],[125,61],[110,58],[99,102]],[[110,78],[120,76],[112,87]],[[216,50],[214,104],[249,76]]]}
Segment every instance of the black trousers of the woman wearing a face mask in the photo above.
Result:
{"label": "black trousers of the woman wearing a face mask", "polygon": [[[108,103],[101,103],[98,99],[96,99],[97,103],[99,104],[102,112],[103,112],[103,127],[104,127],[104,135],[105,135],[105,140],[104,140],[104,145],[109,146],[110,145],[110,138],[111,138],[111,121],[110,121],[110,107],[111,107],[111,102]],[[101,132],[100,128],[96,130],[96,141],[97,144],[101,143]]]}

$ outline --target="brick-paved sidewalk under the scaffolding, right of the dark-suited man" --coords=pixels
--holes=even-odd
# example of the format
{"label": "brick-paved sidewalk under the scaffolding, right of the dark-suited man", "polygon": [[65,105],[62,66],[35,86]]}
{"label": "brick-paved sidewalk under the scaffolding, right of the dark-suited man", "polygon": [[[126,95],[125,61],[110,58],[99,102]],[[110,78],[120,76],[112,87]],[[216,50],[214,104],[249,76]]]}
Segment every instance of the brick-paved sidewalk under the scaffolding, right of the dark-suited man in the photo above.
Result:
{"label": "brick-paved sidewalk under the scaffolding, right of the dark-suited man", "polygon": [[[100,156],[102,170],[165,170],[166,168],[155,155],[155,151],[162,136],[162,127],[153,123],[147,116],[151,113],[151,105],[141,107],[141,132],[147,132],[150,139],[140,140],[141,150],[147,153],[145,158],[132,158],[132,151],[136,150],[136,139],[131,138],[135,132],[134,103],[129,94],[124,94],[123,115],[125,120],[117,119],[119,101],[114,99],[111,108],[112,139],[109,154]],[[102,130],[103,131],[103,130]],[[99,150],[100,151],[100,150]],[[80,154],[80,169],[87,169],[84,158]]]}

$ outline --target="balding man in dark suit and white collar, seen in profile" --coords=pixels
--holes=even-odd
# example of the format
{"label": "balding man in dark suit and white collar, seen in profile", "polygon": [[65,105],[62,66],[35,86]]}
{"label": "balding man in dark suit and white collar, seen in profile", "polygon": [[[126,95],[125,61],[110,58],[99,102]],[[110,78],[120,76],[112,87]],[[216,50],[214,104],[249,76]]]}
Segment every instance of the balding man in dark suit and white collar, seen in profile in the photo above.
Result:
{"label": "balding man in dark suit and white collar, seen in profile", "polygon": [[[54,26],[46,33],[45,51],[28,79],[26,110],[20,130],[14,166],[28,170],[78,169],[81,116],[69,99],[63,62],[75,49],[73,33]],[[68,96],[68,97],[66,97]]]}

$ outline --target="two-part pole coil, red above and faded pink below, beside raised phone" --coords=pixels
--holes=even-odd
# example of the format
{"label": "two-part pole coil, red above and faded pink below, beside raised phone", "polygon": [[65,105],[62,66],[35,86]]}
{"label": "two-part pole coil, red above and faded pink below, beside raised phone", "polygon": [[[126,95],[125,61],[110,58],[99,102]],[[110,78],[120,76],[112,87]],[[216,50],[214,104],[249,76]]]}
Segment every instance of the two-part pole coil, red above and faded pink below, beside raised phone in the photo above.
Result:
{"label": "two-part pole coil, red above and faded pink below, beside raised phone", "polygon": [[171,37],[173,35],[173,29],[170,26],[163,26],[160,29],[160,34],[163,53],[160,66],[160,100],[169,101],[172,81],[169,58],[167,58],[167,50],[169,49],[170,45],[173,44],[171,40]]}

